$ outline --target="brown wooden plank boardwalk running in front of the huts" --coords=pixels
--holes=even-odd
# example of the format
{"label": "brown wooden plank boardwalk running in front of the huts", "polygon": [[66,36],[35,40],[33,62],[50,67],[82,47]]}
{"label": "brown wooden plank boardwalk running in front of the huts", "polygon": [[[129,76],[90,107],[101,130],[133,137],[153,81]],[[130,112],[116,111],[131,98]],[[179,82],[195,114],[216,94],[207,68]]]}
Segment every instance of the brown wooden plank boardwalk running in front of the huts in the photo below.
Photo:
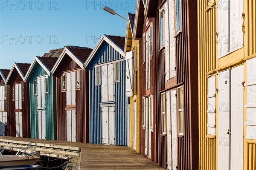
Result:
{"label": "brown wooden plank boardwalk running in front of the huts", "polygon": [[[80,169],[129,169],[129,170],[160,170],[156,163],[125,146],[87,144],[78,142],[48,141],[40,139],[16,138],[0,136],[1,139],[19,142],[37,142],[40,144],[59,145],[60,147],[81,148]],[[1,144],[1,142],[0,142]]]}

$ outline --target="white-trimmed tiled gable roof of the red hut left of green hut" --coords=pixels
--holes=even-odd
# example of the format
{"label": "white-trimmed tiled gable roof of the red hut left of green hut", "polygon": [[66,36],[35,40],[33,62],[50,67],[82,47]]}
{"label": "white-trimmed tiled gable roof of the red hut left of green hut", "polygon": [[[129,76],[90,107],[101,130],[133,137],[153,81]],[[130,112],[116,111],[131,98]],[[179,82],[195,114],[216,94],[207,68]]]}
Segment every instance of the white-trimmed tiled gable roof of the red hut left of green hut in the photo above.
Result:
{"label": "white-trimmed tiled gable roof of the red hut left of green hut", "polygon": [[13,63],[12,69],[9,72],[8,77],[6,78],[6,83],[9,81],[9,79],[12,75],[12,71],[14,69],[16,69],[17,72],[20,74],[20,77],[22,78],[22,80],[25,81],[25,75],[26,75],[27,71],[29,70],[30,65],[31,64],[28,64],[28,63],[17,63],[17,62]]}

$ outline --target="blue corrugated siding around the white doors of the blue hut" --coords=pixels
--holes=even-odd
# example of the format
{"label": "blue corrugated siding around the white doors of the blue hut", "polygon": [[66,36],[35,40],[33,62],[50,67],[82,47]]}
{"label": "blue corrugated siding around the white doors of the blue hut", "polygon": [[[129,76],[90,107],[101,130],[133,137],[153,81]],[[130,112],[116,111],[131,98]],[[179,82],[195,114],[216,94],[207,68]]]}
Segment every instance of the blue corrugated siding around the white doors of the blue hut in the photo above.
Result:
{"label": "blue corrugated siding around the white doors of the blue hut", "polygon": [[[94,65],[110,62],[116,59],[124,58],[107,42],[96,52],[89,64],[90,75],[90,143],[102,144],[102,113],[101,103],[101,85],[95,85]],[[115,144],[127,145],[127,102],[126,102],[126,65],[125,61],[120,62],[120,82],[114,83],[115,91]]]}

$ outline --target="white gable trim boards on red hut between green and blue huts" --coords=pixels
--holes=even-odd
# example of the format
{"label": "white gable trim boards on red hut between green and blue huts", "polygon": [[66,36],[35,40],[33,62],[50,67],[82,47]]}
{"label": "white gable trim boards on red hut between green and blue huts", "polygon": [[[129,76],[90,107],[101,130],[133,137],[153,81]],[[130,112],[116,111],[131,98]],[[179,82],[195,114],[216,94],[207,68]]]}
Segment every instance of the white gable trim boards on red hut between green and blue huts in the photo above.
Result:
{"label": "white gable trim boards on red hut between green and blue huts", "polygon": [[52,68],[52,74],[54,74],[54,72],[56,71],[56,69],[58,68],[58,65],[61,63],[62,59],[64,58],[65,54],[67,54],[71,59],[73,59],[77,65],[79,65],[79,67],[84,68],[84,63],[78,58],[76,57],[75,54],[73,54],[72,51],[70,51],[70,49],[68,49],[67,47],[65,47],[61,53],[61,56],[58,58],[57,62],[55,63],[55,65]]}

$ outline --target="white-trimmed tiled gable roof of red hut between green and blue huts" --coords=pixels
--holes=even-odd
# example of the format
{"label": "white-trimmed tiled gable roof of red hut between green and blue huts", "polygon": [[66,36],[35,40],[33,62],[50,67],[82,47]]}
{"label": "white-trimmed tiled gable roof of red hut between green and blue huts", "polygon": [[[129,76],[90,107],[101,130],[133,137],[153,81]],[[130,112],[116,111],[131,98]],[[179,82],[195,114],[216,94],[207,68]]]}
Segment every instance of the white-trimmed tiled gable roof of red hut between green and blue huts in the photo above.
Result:
{"label": "white-trimmed tiled gable roof of red hut between green and blue huts", "polygon": [[61,63],[65,54],[67,54],[71,59],[73,59],[81,68],[84,68],[84,62],[90,56],[90,53],[93,51],[91,48],[78,47],[78,46],[65,46],[60,57],[56,61],[55,65],[52,67],[52,74],[58,68],[58,65]]}

